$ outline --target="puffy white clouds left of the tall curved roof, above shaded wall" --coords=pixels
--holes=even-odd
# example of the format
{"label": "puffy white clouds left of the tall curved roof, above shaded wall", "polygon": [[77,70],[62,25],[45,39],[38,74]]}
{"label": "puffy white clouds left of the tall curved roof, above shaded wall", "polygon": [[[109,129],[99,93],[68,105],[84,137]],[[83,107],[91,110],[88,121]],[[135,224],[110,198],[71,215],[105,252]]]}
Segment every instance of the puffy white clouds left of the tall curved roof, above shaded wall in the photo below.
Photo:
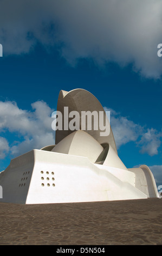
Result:
{"label": "puffy white clouds left of the tall curved roof, above shaded wall", "polygon": [[54,144],[54,131],[51,129],[53,109],[44,101],[34,102],[31,106],[33,111],[30,112],[20,109],[16,102],[0,101],[0,131],[9,131],[20,137],[11,143],[10,149],[6,139],[0,137],[1,158],[4,157],[4,151],[17,156]]}

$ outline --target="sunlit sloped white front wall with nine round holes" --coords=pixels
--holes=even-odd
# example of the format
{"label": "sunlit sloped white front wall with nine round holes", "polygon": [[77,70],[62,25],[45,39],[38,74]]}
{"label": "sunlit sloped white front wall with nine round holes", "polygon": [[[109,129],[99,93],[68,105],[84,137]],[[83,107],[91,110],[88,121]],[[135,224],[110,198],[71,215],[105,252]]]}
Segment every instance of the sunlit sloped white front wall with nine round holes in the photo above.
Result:
{"label": "sunlit sloped white front wall with nine round holes", "polygon": [[34,150],[34,154],[27,204],[147,198],[133,186],[134,174],[126,170],[122,173],[126,181],[123,182],[117,178],[118,174],[112,174],[115,168],[110,173],[108,167],[100,169],[100,164],[90,163],[87,157],[41,150]]}

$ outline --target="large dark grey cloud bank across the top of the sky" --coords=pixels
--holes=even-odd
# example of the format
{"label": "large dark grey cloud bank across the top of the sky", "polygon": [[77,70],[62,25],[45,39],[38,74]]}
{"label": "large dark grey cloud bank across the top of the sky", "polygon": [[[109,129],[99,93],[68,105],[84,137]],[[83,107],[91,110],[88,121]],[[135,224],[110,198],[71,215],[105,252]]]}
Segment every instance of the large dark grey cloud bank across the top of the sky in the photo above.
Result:
{"label": "large dark grey cloud bank across the top of the sky", "polygon": [[5,54],[28,53],[41,42],[61,44],[62,56],[75,64],[92,58],[113,61],[146,77],[162,74],[161,0],[1,0],[0,41]]}

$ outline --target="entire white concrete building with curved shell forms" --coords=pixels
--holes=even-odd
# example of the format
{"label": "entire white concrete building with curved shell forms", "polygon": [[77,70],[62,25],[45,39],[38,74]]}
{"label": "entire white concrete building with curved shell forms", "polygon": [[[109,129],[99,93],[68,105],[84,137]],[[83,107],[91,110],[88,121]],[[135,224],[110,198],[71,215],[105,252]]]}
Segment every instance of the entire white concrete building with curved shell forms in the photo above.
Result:
{"label": "entire white concrete building with curved shell forms", "polygon": [[[103,111],[89,92],[61,91],[59,111]],[[0,173],[0,202],[22,204],[96,202],[159,197],[147,166],[127,169],[120,160],[113,132],[56,131],[56,145],[31,150],[11,160]]]}

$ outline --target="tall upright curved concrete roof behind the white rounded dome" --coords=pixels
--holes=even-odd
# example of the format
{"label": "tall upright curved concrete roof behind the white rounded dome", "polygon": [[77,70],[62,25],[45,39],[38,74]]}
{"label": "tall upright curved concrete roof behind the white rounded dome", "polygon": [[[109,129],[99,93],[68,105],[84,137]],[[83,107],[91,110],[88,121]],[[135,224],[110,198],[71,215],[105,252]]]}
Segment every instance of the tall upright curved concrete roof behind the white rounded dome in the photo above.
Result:
{"label": "tall upright curved concrete roof behind the white rounded dome", "polygon": [[[69,112],[71,111],[77,111],[79,112],[81,116],[81,111],[103,111],[103,117],[107,118],[106,112],[103,109],[101,103],[96,99],[96,97],[89,93],[85,89],[74,89],[70,92],[66,92],[64,90],[60,91],[59,98],[57,101],[57,111],[60,111],[62,113],[62,117],[64,117],[64,107],[68,107]],[[80,121],[81,125],[81,121]],[[93,127],[93,124],[92,124]],[[98,141],[100,144],[108,143],[111,145],[113,150],[117,153],[115,140],[113,136],[112,129],[110,127],[110,133],[108,136],[100,136],[100,129],[99,130],[85,130],[89,135],[91,135],[96,141]],[[56,137],[55,137],[55,143],[58,144],[63,138],[68,136],[70,133],[74,131],[71,130],[56,130]]]}

